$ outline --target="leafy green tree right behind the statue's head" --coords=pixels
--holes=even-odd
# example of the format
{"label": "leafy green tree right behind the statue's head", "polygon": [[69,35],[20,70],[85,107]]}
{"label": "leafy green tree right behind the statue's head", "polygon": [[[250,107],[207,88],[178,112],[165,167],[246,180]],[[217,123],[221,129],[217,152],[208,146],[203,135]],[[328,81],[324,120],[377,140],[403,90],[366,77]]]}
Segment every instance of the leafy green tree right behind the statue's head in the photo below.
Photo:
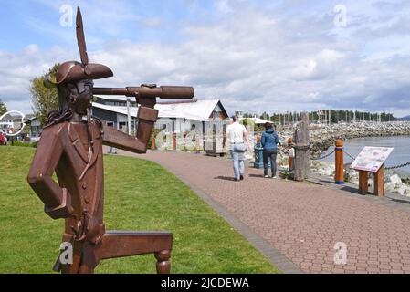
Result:
{"label": "leafy green tree right behind the statue's head", "polygon": [[[55,78],[59,64],[48,70],[50,78]],[[47,89],[44,86],[46,75],[32,79],[30,85],[31,100],[34,106],[34,114],[41,125],[47,124],[48,113],[52,110],[58,110],[58,93],[57,89]]]}

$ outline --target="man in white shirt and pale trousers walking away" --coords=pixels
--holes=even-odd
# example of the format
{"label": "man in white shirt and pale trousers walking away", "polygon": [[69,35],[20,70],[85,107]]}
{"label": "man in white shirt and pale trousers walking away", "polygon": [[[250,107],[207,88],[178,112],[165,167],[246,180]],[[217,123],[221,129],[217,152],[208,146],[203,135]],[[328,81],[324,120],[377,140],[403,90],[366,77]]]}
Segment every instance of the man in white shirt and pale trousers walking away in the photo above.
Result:
{"label": "man in white shirt and pale trousers walking away", "polygon": [[[250,144],[247,129],[237,121],[236,116],[232,117],[232,123],[226,127],[226,136],[231,146],[235,181],[242,181],[245,174],[245,152],[247,148],[250,150]],[[244,141],[247,142],[247,148]]]}

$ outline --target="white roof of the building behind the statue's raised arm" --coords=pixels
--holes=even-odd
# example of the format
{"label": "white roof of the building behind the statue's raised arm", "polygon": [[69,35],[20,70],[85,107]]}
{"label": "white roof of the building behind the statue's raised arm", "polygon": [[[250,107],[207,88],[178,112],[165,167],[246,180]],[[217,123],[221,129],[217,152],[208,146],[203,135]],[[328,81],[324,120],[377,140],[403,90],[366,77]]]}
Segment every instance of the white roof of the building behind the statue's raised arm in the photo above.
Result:
{"label": "white roof of the building behind the statue's raised arm", "polygon": [[[106,99],[105,97],[101,98]],[[118,100],[118,98],[110,100]],[[186,100],[181,102],[169,101],[157,103],[155,105],[155,109],[159,110],[159,118],[185,118],[187,120],[205,121],[208,120],[209,117],[212,115],[212,112],[214,111],[218,103],[219,99],[194,99],[190,102],[187,102]],[[102,110],[110,110],[117,113],[121,113],[123,115],[127,115],[127,107],[109,106],[97,102],[93,102],[92,106]],[[225,110],[222,104],[220,104],[220,107],[221,110]],[[138,108],[130,107],[131,117],[137,117],[137,113]]]}

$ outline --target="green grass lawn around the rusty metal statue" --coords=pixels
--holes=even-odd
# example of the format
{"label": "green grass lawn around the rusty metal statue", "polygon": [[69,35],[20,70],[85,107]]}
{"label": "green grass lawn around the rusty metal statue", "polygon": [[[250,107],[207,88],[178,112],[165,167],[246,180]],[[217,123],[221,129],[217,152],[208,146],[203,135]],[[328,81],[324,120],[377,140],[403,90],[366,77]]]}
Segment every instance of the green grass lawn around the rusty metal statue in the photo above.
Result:
{"label": "green grass lawn around the rusty metal statue", "polygon": [[[63,220],[26,183],[35,149],[0,147],[0,273],[50,273]],[[143,156],[142,156],[143,157]],[[172,273],[278,273],[172,173],[153,162],[105,156],[107,230],[173,232]],[[155,273],[153,255],[100,262],[97,273]]]}

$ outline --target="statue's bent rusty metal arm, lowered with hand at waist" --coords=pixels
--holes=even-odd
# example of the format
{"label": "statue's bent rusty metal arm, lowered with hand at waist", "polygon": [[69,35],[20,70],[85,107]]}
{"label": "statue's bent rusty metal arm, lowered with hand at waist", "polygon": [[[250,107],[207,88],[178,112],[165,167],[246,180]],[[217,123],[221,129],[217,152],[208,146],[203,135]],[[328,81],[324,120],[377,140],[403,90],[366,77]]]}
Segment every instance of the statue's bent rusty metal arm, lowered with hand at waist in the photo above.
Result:
{"label": "statue's bent rusty metal arm, lowered with hand at waist", "polygon": [[45,204],[44,212],[53,219],[67,218],[73,213],[71,196],[52,179],[63,147],[57,133],[44,130],[28,172],[27,182]]}

